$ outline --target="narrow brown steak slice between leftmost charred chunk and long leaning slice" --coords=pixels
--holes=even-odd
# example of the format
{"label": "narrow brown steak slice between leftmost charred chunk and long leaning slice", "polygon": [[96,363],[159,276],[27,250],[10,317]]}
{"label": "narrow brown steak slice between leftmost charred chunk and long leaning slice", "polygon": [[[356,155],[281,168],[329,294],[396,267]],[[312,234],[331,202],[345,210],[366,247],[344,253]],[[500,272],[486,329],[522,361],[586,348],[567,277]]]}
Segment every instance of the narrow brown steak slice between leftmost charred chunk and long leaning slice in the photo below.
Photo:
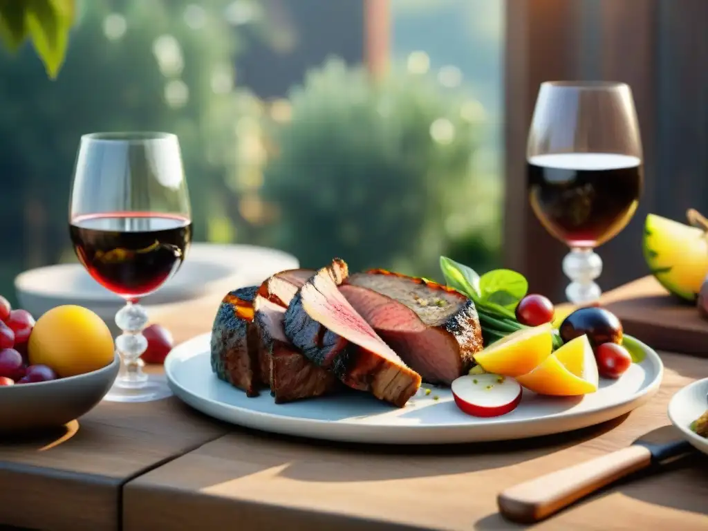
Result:
{"label": "narrow brown steak slice between leftmost charred chunk and long leaning slice", "polygon": [[284,307],[256,295],[253,309],[256,312],[253,322],[259,334],[261,374],[268,375],[270,394],[276,404],[321,396],[336,389],[338,380],[333,373],[314,365],[285,337]]}

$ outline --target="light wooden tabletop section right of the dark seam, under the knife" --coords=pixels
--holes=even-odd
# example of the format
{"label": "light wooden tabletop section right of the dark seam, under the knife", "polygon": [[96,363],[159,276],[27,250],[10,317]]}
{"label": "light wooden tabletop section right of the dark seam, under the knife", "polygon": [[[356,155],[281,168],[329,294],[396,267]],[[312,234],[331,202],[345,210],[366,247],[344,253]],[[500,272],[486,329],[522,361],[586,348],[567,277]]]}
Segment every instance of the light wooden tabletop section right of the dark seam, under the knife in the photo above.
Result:
{"label": "light wooden tabletop section right of the dark seam, under the knife", "polygon": [[[560,436],[452,447],[342,445],[236,430],[125,485],[124,529],[465,530],[512,528],[502,489],[626,447],[673,438],[666,406],[705,362],[662,353],[666,377],[628,416]],[[663,428],[663,429],[659,429]],[[654,431],[658,430],[658,431]],[[708,466],[693,456],[620,484],[534,527],[539,530],[702,529]]]}

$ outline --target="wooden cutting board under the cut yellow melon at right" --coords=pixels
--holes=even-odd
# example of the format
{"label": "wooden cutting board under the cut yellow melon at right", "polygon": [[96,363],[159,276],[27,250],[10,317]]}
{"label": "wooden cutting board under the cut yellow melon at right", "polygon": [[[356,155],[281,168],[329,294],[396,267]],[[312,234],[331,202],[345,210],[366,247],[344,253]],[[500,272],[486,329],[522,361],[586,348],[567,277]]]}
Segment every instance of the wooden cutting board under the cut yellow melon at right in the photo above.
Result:
{"label": "wooden cutting board under the cut yellow melon at right", "polygon": [[649,346],[708,358],[708,320],[694,304],[669,295],[652,276],[607,292],[603,303],[625,332]]}

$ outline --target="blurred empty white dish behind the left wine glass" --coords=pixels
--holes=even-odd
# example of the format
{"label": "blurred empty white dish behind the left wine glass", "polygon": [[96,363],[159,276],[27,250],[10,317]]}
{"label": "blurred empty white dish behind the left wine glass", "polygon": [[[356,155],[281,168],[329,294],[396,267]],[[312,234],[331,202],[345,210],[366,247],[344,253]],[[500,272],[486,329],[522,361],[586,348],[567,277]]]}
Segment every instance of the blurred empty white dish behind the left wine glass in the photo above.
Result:
{"label": "blurred empty white dish behind the left wine glass", "polygon": [[[261,282],[284,269],[297,268],[294,256],[249,245],[214,245],[195,243],[180,270],[143,304],[166,304],[193,299],[218,288]],[[125,304],[118,295],[93,280],[79,263],[50,265],[21,273],[15,279],[23,307],[38,307],[41,315],[57,304],[81,304],[87,307]],[[45,308],[46,306],[49,306]],[[31,310],[30,310],[31,312]],[[115,312],[114,312],[115,313]]]}

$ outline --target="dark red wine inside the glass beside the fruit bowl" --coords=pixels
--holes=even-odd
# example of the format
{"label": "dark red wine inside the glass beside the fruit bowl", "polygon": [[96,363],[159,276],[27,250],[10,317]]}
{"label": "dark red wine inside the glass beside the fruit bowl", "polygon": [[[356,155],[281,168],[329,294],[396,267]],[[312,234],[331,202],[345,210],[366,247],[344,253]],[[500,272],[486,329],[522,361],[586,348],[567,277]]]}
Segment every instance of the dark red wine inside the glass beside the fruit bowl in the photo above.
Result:
{"label": "dark red wine inside the glass beside the fruit bowl", "polygon": [[113,212],[77,217],[69,233],[89,274],[116,295],[137,301],[179,269],[192,223],[179,215]]}

